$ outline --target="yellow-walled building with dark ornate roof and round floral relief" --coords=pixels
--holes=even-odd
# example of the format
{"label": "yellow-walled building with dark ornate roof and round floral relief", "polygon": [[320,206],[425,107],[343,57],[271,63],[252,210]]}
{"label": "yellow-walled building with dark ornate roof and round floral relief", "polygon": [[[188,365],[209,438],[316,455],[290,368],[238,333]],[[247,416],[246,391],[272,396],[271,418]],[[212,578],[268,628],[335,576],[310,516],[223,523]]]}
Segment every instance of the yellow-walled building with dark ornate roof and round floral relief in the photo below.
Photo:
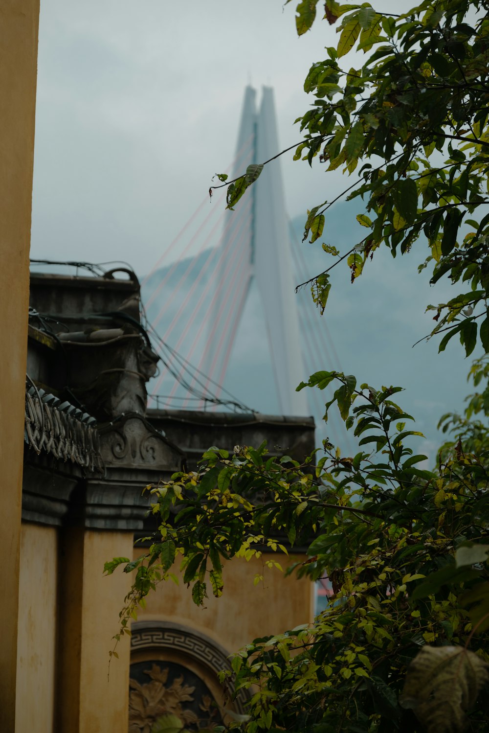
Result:
{"label": "yellow-walled building with dark ornate roof and round floral relief", "polygon": [[[224,704],[217,672],[228,668],[228,655],[264,633],[310,620],[310,582],[269,571],[254,586],[263,562],[235,560],[225,568],[225,596],[204,609],[186,587],[164,583],[133,625],[130,644],[118,647],[107,682],[130,578],[104,578],[102,566],[131,556],[134,540],[157,530],[142,487],[184,462],[193,468],[209,444],[232,450],[268,439],[304,456],[313,448],[313,421],[146,412],[146,381],[158,358],[141,325],[130,270],[31,276],[28,340],[20,730],[115,732],[129,720],[136,733],[163,712],[195,729],[215,724]],[[242,712],[244,704],[234,705]]]}

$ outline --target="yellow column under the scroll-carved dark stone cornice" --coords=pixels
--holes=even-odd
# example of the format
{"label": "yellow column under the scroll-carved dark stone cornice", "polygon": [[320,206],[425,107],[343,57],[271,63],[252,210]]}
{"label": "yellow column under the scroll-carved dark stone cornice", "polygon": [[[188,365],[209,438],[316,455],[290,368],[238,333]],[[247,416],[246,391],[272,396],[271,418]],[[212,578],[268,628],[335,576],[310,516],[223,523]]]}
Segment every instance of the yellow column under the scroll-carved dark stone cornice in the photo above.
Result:
{"label": "yellow column under the scroll-carved dark stone cornice", "polygon": [[60,556],[59,661],[56,730],[116,733],[127,730],[130,638],[122,638],[110,674],[109,649],[131,575],[102,575],[116,556],[132,557],[132,532],[64,531]]}

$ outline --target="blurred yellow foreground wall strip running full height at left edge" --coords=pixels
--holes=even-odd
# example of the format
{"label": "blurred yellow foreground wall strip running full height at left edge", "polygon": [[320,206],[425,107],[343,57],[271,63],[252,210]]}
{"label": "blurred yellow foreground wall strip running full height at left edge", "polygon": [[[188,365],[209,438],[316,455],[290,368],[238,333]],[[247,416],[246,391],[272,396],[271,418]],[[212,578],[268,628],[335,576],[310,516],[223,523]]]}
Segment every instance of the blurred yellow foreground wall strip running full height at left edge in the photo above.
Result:
{"label": "blurred yellow foreground wall strip running full height at left edge", "polygon": [[[23,403],[39,0],[0,2],[0,730],[15,729]],[[20,731],[22,733],[22,731]]]}

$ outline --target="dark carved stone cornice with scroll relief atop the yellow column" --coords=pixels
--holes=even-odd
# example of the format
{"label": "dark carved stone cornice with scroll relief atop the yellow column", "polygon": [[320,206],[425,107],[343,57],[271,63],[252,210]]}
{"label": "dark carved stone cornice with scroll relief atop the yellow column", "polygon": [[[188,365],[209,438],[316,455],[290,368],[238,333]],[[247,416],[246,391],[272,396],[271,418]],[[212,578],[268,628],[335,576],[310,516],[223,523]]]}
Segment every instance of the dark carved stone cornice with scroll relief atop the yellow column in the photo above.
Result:
{"label": "dark carved stone cornice with scroll relief atop the yellow column", "polygon": [[[99,429],[68,414],[66,420],[56,422],[64,426],[64,431],[51,435],[53,421],[42,412],[44,403],[28,394],[26,405],[26,443],[34,450],[26,451],[23,520],[141,534],[151,503],[151,495],[143,494],[143,489],[182,470],[182,451],[136,413],[123,415]],[[46,409],[56,413],[51,405]],[[81,441],[79,433],[85,435],[83,430],[91,431],[92,443],[88,438],[85,443]],[[97,446],[92,463],[86,460],[88,453],[82,451],[87,444]],[[100,470],[90,471],[91,465]]]}

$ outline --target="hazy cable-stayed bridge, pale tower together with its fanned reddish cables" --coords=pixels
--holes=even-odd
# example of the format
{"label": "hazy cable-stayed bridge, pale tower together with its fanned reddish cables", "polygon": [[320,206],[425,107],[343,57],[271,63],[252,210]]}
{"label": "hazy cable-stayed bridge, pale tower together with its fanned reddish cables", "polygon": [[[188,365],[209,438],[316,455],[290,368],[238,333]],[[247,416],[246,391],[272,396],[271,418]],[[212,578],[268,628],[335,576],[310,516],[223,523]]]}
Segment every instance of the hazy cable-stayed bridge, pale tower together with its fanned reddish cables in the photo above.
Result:
{"label": "hazy cable-stayed bridge, pale tower together with its fanned reddish cables", "polygon": [[[248,86],[230,179],[279,151],[272,89],[264,87],[258,106]],[[278,413],[320,419],[323,394],[295,387],[317,369],[340,365],[310,293],[295,294],[307,270],[285,212],[280,161],[264,167],[235,211],[225,210],[225,194],[219,193],[210,205],[207,197],[201,202],[142,282],[162,358],[160,375],[149,386],[149,406],[263,412],[267,408],[253,399],[259,401],[253,387],[261,383],[275,391]],[[248,353],[240,356],[239,334],[250,319],[255,345],[248,334]],[[259,375],[240,372],[250,344],[268,362]],[[249,407],[245,391],[253,395]]]}

